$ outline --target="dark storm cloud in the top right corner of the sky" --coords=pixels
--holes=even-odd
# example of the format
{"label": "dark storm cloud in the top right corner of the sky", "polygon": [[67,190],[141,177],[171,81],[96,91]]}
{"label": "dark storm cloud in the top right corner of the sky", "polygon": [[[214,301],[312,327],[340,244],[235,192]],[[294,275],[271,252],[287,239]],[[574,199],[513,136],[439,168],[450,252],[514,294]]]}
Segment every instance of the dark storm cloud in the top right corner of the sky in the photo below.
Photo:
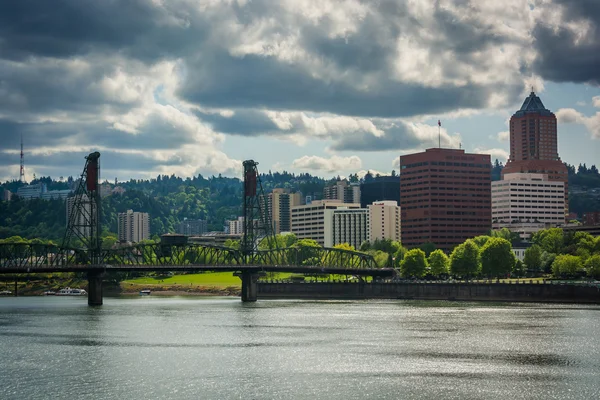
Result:
{"label": "dark storm cloud in the top right corner of the sky", "polygon": [[[537,58],[535,70],[555,82],[600,84],[600,1],[555,0],[563,10],[563,26],[553,27],[538,21],[534,30]],[[564,26],[567,22],[591,24],[586,38]]]}

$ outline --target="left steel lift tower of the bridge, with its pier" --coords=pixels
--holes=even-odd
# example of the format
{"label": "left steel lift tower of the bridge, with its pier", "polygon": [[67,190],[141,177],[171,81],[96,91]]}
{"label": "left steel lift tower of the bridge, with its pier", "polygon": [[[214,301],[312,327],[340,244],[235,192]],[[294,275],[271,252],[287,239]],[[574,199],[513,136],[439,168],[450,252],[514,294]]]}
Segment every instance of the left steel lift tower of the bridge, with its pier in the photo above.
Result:
{"label": "left steel lift tower of the bridge, with its pier", "polygon": [[[100,225],[100,153],[90,153],[81,173],[75,196],[67,199],[67,230],[62,246],[65,248],[81,244],[76,254],[83,258],[82,262],[92,266],[100,266],[102,233]],[[78,239],[80,243],[72,243]],[[102,305],[102,270],[88,272],[88,304]]]}

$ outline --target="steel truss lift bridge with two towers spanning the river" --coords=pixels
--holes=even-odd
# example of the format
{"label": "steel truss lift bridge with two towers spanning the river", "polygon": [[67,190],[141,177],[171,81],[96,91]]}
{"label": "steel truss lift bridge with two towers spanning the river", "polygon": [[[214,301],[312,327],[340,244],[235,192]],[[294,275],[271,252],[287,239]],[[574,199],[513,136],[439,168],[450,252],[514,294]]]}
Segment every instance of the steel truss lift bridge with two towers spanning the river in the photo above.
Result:
{"label": "steel truss lift bridge with two towers spanning the river", "polygon": [[[0,244],[0,274],[84,272],[88,304],[102,305],[102,277],[110,271],[234,272],[242,280],[242,301],[256,301],[256,283],[267,272],[392,277],[366,253],[336,248],[277,248],[264,210],[262,187],[254,161],[244,162],[244,236],[241,249],[199,244],[152,243],[103,249],[100,239],[99,153],[86,157],[75,192],[75,206],[61,245]],[[82,247],[70,245],[77,237]],[[266,241],[269,250],[258,248]]]}

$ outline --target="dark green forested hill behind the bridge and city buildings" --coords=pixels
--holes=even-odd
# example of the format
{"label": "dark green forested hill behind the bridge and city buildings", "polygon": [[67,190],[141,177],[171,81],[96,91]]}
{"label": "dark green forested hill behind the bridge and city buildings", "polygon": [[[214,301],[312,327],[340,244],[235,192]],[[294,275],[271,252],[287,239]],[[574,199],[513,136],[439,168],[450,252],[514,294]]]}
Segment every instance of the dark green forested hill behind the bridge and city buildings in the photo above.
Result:
{"label": "dark green forested hill behind the bridge and city buildings", "polygon": [[[600,174],[595,166],[579,165],[577,169],[568,165],[570,210],[580,216],[584,212],[600,210]],[[492,166],[493,180],[500,179],[502,164]],[[359,181],[356,174],[350,175],[351,182]],[[367,175],[363,179],[368,180]],[[53,180],[42,177],[31,183],[42,182],[48,190],[67,189],[73,185],[73,177]],[[300,191],[303,195],[321,198],[326,184],[336,180],[312,176],[274,172],[261,174],[262,187],[269,193],[275,187]],[[21,182],[11,181],[0,185],[0,198],[4,189],[16,192]],[[115,184],[109,184],[115,187]],[[103,199],[103,226],[105,233],[117,232],[117,215],[128,209],[150,214],[152,234],[174,232],[184,218],[206,219],[208,229],[221,231],[225,220],[235,219],[242,214],[242,182],[237,178],[222,176],[179,178],[158,176],[155,179],[132,179],[119,182],[117,186],[126,191],[122,195],[111,195]],[[575,193],[575,194],[574,194]],[[0,201],[0,238],[23,236],[60,240],[66,225],[66,210],[61,200]]]}

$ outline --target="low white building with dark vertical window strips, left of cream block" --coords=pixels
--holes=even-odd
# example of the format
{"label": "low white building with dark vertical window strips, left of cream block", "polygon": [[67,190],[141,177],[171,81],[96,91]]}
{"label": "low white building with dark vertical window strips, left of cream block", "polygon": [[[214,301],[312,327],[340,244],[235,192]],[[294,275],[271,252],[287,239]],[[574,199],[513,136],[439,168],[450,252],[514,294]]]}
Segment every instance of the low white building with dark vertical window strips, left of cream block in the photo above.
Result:
{"label": "low white building with dark vertical window strips, left of cream block", "polygon": [[369,233],[369,210],[366,208],[325,209],[324,246],[347,243],[359,249]]}

